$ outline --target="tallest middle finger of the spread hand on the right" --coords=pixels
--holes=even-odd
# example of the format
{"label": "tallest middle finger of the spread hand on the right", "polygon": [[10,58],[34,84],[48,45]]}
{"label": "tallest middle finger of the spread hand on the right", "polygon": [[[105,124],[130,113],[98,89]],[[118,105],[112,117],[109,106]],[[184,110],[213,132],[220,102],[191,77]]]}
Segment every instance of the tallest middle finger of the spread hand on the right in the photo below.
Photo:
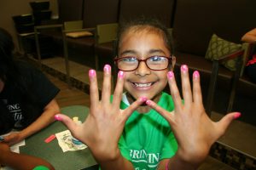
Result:
{"label": "tallest middle finger of the spread hand on the right", "polygon": [[180,70],[181,70],[184,105],[191,105],[192,93],[191,93],[191,87],[189,82],[189,68],[187,65],[181,65]]}

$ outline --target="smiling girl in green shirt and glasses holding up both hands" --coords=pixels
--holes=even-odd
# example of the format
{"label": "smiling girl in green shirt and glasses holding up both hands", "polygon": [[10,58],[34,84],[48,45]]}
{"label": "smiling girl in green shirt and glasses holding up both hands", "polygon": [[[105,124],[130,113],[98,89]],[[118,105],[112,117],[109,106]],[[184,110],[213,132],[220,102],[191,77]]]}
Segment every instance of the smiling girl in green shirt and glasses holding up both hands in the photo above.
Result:
{"label": "smiling girl in green shirt and glasses holding up both hands", "polygon": [[[181,66],[181,99],[172,71],[176,59],[171,42],[166,28],[155,20],[121,26],[112,101],[111,68],[105,65],[102,99],[96,71],[89,71],[91,105],[84,123],[78,126],[67,116],[55,116],[89,146],[102,169],[195,169],[240,116],[231,113],[212,122],[202,105],[199,72],[194,72],[191,91],[187,65]],[[172,95],[163,92],[167,83]]]}

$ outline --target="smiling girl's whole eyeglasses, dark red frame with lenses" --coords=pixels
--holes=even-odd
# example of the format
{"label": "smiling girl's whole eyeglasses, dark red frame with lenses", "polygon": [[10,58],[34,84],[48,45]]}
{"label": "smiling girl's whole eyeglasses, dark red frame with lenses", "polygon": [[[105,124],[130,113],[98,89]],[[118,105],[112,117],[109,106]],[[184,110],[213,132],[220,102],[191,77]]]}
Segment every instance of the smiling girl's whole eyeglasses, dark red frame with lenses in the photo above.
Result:
{"label": "smiling girl's whole eyeglasses, dark red frame with lenses", "polygon": [[[120,71],[135,71],[137,70],[140,62],[145,62],[148,68],[152,71],[162,71],[168,68],[170,63],[172,63],[172,56],[158,56],[154,55],[148,57],[147,59],[137,59],[137,57],[119,57],[114,59],[115,64]],[[171,62],[170,62],[171,61]]]}

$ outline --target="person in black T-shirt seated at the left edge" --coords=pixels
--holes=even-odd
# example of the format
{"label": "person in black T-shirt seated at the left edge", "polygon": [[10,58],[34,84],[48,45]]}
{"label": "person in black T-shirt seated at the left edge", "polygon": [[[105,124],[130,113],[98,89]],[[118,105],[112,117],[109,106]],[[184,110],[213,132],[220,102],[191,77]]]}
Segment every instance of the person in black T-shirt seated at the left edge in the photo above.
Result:
{"label": "person in black T-shirt seated at the left edge", "polygon": [[3,142],[16,144],[54,122],[59,112],[55,96],[59,89],[44,74],[13,56],[14,42],[0,28],[0,135]]}

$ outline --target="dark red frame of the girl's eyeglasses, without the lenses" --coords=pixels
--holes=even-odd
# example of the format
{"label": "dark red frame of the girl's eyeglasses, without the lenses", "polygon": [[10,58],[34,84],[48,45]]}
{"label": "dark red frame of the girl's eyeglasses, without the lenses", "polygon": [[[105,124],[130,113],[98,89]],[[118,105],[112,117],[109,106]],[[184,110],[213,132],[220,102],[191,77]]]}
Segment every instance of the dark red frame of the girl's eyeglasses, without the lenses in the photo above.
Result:
{"label": "dark red frame of the girl's eyeglasses, without the lenses", "polygon": [[[147,59],[137,59],[137,61],[138,61],[137,67],[136,67],[135,69],[131,70],[131,71],[136,71],[142,61],[145,62],[145,64],[147,65],[148,69],[150,69],[151,71],[164,71],[164,70],[166,70],[166,69],[170,66],[170,64],[172,64],[172,55],[171,55],[170,57],[161,56],[161,55],[155,55],[155,56],[159,56],[159,57],[163,57],[163,58],[168,59],[168,65],[166,66],[165,69],[160,69],[160,70],[159,70],[159,69],[157,69],[157,70],[156,70],[156,69],[151,69],[151,68],[148,66],[147,62],[146,62],[147,59],[149,59],[149,58],[151,58],[151,57],[154,57],[154,56],[151,56],[151,57],[148,57]],[[118,61],[119,59],[125,59],[125,58],[134,58],[134,56],[118,57],[118,58],[113,59],[114,64],[117,65],[118,69],[119,69],[119,66],[118,66],[118,62],[117,62],[117,61]],[[171,61],[171,62],[170,62],[170,61]],[[125,71],[125,70],[119,69],[119,71]]]}

